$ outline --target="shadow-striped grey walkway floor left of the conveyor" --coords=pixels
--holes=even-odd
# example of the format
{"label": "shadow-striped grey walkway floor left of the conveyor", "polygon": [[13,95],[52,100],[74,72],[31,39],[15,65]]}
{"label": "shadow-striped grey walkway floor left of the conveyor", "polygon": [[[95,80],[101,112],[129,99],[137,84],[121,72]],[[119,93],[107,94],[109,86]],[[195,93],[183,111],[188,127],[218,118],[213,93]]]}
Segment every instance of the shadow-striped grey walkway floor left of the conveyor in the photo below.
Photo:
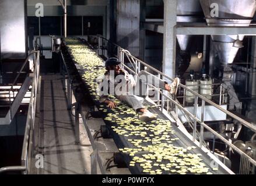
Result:
{"label": "shadow-striped grey walkway floor left of the conveyor", "polygon": [[[44,169],[38,174],[90,174],[92,146],[82,123],[80,145],[75,144],[75,117],[67,110],[59,74],[41,78],[39,148]],[[74,102],[73,98],[73,102]]]}

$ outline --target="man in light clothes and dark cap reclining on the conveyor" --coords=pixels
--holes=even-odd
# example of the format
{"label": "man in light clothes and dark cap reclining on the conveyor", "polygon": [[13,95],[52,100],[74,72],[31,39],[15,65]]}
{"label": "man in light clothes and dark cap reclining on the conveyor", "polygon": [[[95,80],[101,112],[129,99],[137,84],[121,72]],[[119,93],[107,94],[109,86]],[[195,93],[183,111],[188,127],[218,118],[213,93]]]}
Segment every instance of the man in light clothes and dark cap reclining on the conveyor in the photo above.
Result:
{"label": "man in light clothes and dark cap reclining on the conveyor", "polygon": [[176,95],[180,79],[175,78],[173,83],[168,84],[145,70],[133,77],[128,71],[121,69],[120,63],[117,58],[106,60],[107,71],[99,85],[100,102],[106,103],[110,108],[115,108],[117,104],[108,98],[108,95],[115,95],[121,102],[127,103],[135,112],[138,112],[141,121],[155,120],[156,115],[143,106],[143,102],[148,95],[148,84],[166,90],[171,95]]}

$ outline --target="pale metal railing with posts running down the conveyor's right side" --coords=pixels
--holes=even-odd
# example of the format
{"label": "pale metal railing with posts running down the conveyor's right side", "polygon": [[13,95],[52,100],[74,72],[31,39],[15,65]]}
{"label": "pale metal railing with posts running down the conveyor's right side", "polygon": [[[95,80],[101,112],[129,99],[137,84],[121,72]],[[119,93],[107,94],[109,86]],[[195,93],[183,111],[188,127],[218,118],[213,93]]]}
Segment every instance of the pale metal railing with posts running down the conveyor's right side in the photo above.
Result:
{"label": "pale metal railing with posts running down the conveyor's right side", "polygon": [[[103,42],[103,41],[106,43],[108,42],[108,40],[106,38],[99,36],[99,42]],[[105,45],[108,45],[108,44],[105,44]],[[99,46],[99,50],[101,50],[101,53],[103,53],[103,54],[106,54],[105,52],[103,52],[103,50],[106,50],[106,49],[107,48],[102,48]],[[162,73],[161,71],[149,66],[145,62],[142,62],[142,60],[135,58],[134,56],[131,55],[131,53],[129,53],[129,51],[127,51],[119,46],[117,47],[117,53],[118,53],[117,57],[120,59],[122,67],[125,67],[127,70],[131,71],[131,73],[138,74],[139,71],[141,71],[141,67],[144,66],[144,67],[147,67],[148,69],[152,70],[154,73],[156,73],[153,76],[159,77],[162,80],[167,80],[167,81],[171,81],[171,82],[173,81],[173,78],[171,78],[171,77],[167,76],[166,74]],[[131,67],[125,65],[125,62],[130,63],[132,66],[132,69],[131,69]],[[225,113],[227,116],[231,117],[233,120],[239,121],[239,123],[243,124],[243,126],[250,128],[250,130],[256,132],[256,127],[253,126],[253,124],[248,123],[246,120],[241,119],[240,117],[227,111],[226,109],[222,108],[220,105],[212,102],[211,100],[205,98],[204,96],[198,94],[197,92],[191,90],[190,88],[186,87],[183,84],[180,84],[180,87],[183,88],[185,91],[191,92],[191,94],[193,96],[195,96],[194,113],[188,112],[188,110],[185,109],[179,102],[177,102],[175,99],[173,99],[169,95],[167,95],[166,94],[167,91],[159,90],[159,88],[156,88],[153,85],[151,85],[151,87],[154,88],[158,92],[158,94],[161,95],[160,110],[162,110],[162,112],[163,112],[163,110],[167,110],[167,112],[168,112],[170,108],[173,109],[173,106],[176,106],[176,108],[182,110],[188,117],[191,118],[192,121],[194,121],[193,133],[192,133],[192,141],[194,141],[194,142],[196,141],[196,135],[197,135],[197,123],[199,123],[199,126],[200,126],[199,147],[200,148],[202,148],[202,145],[204,143],[204,131],[207,130],[207,131],[211,132],[213,135],[215,135],[215,137],[218,137],[220,140],[222,140],[226,145],[230,146],[230,148],[232,148],[234,151],[236,151],[241,156],[246,158],[249,162],[256,165],[256,161],[253,158],[248,156],[246,153],[244,153],[239,148],[237,148],[235,145],[233,145],[232,142],[230,142],[229,140],[226,140],[226,138],[222,137],[222,135],[220,135],[218,132],[216,132],[211,127],[209,127],[207,124],[205,124],[205,120],[204,120],[205,119],[205,104],[208,103],[209,105],[214,106],[216,109]],[[201,118],[197,117],[198,101],[199,101],[198,99],[201,99]],[[169,102],[171,103],[170,106],[169,106]],[[167,106],[166,106],[166,104],[167,104]],[[164,108],[166,108],[166,109],[164,109]]]}

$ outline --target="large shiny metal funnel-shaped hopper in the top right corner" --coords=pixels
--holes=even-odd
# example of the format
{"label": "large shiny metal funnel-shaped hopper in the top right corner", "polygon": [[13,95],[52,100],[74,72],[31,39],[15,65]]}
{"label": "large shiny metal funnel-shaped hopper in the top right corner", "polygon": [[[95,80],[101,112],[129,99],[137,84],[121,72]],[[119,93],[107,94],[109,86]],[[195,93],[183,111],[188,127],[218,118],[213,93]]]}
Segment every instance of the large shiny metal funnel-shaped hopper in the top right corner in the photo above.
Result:
{"label": "large shiny metal funnel-shaped hopper in the top right corner", "polygon": [[[200,0],[209,26],[247,27],[256,10],[255,0]],[[219,6],[219,17],[211,16],[211,5]],[[236,45],[238,39],[243,41],[244,35],[212,35],[213,47],[223,65],[233,63],[241,45]],[[239,42],[239,41],[238,41]]]}

